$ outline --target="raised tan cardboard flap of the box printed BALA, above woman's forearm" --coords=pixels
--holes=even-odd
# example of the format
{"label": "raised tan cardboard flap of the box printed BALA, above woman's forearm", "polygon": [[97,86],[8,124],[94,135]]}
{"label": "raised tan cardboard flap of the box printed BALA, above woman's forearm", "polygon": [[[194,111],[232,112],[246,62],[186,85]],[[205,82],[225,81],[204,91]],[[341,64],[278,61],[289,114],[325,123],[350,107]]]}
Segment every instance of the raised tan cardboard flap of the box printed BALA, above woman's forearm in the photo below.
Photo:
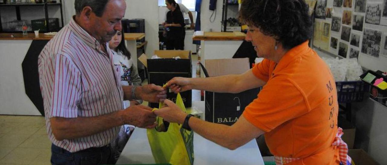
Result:
{"label": "raised tan cardboard flap of the box printed BALA, above woman's forearm", "polygon": [[250,69],[248,58],[205,60],[205,68],[210,77],[228,74],[242,74]]}

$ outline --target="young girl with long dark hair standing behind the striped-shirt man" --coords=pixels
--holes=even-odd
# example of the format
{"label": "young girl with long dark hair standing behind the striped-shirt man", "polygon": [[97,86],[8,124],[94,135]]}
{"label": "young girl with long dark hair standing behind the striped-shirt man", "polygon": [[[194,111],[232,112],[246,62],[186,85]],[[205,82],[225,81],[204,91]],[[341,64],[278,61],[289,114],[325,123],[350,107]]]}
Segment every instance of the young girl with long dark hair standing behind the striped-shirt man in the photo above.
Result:
{"label": "young girl with long dark hair standing behind the striped-shirt man", "polygon": [[[121,76],[121,84],[124,86],[135,85],[141,86],[141,78],[137,71],[137,66],[133,65],[132,58],[130,58],[130,52],[126,49],[124,34],[122,31],[118,31],[116,35],[109,42],[109,47],[113,51],[113,62],[115,70]],[[128,108],[129,106],[139,105],[142,103],[142,100],[124,100],[123,108]],[[111,143],[111,148],[115,161],[121,155],[123,148],[125,147],[129,137],[134,130],[132,125],[123,125],[115,138]]]}

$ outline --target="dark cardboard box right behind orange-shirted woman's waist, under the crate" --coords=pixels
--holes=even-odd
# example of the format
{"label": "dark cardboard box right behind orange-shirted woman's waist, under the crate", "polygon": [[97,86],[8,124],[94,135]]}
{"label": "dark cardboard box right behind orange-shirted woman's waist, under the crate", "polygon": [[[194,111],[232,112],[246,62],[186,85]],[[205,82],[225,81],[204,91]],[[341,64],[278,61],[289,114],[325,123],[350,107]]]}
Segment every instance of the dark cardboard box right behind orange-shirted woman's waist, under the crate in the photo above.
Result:
{"label": "dark cardboard box right behind orange-shirted woman's waist, under the crate", "polygon": [[341,116],[338,117],[337,125],[342,128],[344,133],[341,139],[347,143],[348,149],[352,149],[355,141],[356,127]]}

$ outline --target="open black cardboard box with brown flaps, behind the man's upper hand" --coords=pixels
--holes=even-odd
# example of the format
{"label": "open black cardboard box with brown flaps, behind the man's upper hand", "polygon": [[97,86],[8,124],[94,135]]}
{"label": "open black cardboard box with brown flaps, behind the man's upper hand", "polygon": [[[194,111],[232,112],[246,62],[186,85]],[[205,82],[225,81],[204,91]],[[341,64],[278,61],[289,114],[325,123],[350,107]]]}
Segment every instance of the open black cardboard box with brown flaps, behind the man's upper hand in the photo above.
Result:
{"label": "open black cardboard box with brown flaps, behind the man's upper hand", "polygon": [[[173,77],[192,77],[192,61],[190,51],[154,51],[162,59],[147,59],[142,54],[138,59],[148,69],[148,84],[163,86]],[[173,59],[180,57],[180,59]],[[192,91],[180,93],[185,107],[191,107]],[[177,94],[168,91],[167,99],[176,101]],[[152,108],[158,108],[158,103],[149,103]]]}

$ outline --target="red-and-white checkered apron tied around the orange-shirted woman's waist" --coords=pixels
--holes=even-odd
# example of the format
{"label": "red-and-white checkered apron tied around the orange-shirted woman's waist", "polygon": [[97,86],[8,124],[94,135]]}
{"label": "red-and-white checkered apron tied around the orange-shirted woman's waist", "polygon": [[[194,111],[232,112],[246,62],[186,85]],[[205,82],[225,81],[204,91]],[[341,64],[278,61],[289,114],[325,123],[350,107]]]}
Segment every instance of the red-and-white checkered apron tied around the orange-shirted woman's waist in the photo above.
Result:
{"label": "red-and-white checkered apron tied around the orange-shirted woman's waist", "polygon": [[[342,132],[342,128],[337,128],[337,134],[335,137],[335,141],[332,143],[332,145],[339,147],[339,157],[340,162],[342,165],[351,165],[352,159],[349,157],[348,154],[348,146],[347,143],[345,143],[341,136],[344,133]],[[284,165],[286,163],[294,162],[296,160],[300,160],[301,158],[286,158],[286,157],[278,157],[274,156],[274,160],[276,162],[276,165]]]}

